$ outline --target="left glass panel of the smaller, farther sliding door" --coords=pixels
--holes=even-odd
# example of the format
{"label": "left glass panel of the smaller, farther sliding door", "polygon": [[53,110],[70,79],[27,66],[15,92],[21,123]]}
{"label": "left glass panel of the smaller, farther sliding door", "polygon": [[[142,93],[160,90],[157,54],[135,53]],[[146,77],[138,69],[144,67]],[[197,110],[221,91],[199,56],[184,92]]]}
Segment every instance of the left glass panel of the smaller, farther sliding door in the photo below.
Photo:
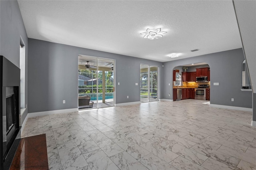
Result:
{"label": "left glass panel of the smaller, farther sliding door", "polygon": [[140,101],[142,103],[149,101],[148,74],[149,66],[140,65]]}

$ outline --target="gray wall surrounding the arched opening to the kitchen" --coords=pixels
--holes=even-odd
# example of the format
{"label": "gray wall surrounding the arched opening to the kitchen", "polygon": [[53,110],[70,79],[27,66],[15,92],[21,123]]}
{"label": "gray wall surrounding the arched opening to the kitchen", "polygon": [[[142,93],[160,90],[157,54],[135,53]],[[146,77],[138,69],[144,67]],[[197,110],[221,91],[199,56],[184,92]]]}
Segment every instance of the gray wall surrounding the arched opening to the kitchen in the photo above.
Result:
{"label": "gray wall surrounding the arched opening to the kitchen", "polygon": [[[208,63],[211,70],[210,102],[216,105],[252,108],[252,92],[241,91],[242,48],[218,53],[211,53],[188,59],[174,60],[164,63],[164,79],[162,79],[162,98],[172,99],[172,70],[178,65],[191,63]],[[219,83],[214,86],[213,83]],[[168,96],[170,93],[170,97]],[[231,101],[234,98],[234,101]]]}

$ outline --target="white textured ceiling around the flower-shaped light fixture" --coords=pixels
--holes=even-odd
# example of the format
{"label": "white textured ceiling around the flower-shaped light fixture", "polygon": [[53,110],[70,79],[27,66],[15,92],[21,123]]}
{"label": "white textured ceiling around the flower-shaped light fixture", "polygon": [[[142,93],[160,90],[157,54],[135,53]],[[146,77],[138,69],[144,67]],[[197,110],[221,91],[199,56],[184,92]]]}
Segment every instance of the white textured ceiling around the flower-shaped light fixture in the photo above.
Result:
{"label": "white textured ceiling around the flower-shaped light fixture", "polygon": [[[38,40],[161,62],[242,47],[232,0],[18,0],[18,4],[28,38]],[[140,34],[147,28],[167,33],[148,40]],[[180,57],[167,56],[174,53]]]}

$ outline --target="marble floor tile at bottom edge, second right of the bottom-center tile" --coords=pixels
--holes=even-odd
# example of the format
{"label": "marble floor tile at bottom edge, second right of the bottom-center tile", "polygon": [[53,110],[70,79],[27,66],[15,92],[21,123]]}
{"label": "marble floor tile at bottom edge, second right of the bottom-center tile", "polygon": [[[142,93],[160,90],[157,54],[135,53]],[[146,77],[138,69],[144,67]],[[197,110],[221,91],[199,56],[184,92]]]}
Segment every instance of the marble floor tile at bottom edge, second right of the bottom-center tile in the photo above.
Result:
{"label": "marble floor tile at bottom edge, second right of the bottom-center tile", "polygon": [[170,162],[172,166],[179,170],[207,170],[206,168],[195,164],[194,162],[183,158],[182,156],[179,156],[178,158],[175,158],[172,162]]}

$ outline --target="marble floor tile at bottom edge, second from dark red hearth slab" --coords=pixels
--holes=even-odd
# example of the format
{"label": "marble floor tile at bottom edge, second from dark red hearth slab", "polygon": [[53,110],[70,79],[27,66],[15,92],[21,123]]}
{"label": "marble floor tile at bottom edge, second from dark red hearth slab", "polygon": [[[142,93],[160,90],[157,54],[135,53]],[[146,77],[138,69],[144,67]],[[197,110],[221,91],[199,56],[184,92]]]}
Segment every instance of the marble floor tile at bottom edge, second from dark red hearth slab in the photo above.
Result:
{"label": "marble floor tile at bottom edge, second from dark red hearth slab", "polygon": [[79,169],[88,165],[77,147],[62,150],[59,154],[63,170]]}

